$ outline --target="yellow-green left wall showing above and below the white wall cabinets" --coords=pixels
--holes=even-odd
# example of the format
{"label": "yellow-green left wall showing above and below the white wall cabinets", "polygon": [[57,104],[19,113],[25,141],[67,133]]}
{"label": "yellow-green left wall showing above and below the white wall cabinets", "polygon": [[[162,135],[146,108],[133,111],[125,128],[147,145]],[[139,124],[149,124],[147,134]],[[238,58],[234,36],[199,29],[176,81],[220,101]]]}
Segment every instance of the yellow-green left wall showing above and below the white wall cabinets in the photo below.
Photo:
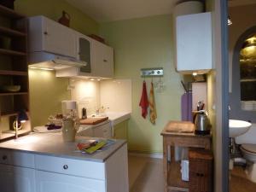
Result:
{"label": "yellow-green left wall showing above and below the white wall cabinets", "polygon": [[[84,34],[98,34],[95,20],[63,0],[16,0],[15,10],[27,16],[45,15],[52,20],[58,20],[65,10],[71,15],[71,28]],[[29,84],[32,127],[47,123],[50,114],[61,113],[61,101],[71,97],[68,79],[57,79],[54,72],[30,69]]]}

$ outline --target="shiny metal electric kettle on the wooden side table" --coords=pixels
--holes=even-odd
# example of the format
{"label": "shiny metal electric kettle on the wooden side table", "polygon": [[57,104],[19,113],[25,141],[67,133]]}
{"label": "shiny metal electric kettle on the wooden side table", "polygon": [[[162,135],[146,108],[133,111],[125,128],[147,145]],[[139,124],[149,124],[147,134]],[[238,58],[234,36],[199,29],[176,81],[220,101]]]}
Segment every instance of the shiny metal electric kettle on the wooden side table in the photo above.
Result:
{"label": "shiny metal electric kettle on the wooden side table", "polygon": [[195,112],[194,116],[195,134],[208,135],[211,132],[211,124],[208,118],[207,111],[201,110]]}

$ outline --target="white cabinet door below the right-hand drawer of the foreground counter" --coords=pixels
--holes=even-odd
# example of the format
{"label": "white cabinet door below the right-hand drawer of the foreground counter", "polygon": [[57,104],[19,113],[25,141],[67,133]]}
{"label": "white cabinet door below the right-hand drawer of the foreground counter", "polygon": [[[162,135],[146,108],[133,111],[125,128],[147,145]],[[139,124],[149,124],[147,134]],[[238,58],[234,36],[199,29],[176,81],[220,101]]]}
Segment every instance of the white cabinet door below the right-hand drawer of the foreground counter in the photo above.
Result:
{"label": "white cabinet door below the right-hand drawer of the foreground counter", "polygon": [[53,172],[36,171],[37,192],[105,192],[105,182]]}

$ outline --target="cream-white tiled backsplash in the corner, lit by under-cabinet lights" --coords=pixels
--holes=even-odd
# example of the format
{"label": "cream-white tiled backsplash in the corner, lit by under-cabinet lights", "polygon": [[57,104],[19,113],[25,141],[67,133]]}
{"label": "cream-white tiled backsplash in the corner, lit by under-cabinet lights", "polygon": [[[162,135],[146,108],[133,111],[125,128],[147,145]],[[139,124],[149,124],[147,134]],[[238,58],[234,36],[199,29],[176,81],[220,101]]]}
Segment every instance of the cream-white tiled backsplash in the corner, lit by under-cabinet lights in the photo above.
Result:
{"label": "cream-white tiled backsplash in the corner, lit by under-cabinet lights", "polygon": [[70,79],[69,87],[72,100],[78,102],[79,117],[82,108],[86,108],[87,115],[101,107],[106,112],[131,112],[131,79]]}

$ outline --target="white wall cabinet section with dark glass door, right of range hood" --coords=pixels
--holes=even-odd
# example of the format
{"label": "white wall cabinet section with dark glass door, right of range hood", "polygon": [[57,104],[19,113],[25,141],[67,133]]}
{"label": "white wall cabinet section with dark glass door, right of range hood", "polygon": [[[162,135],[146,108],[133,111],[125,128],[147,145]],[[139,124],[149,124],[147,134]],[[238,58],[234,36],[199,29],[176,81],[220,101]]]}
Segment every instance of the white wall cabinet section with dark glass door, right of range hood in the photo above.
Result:
{"label": "white wall cabinet section with dark glass door, right of range hood", "polygon": [[86,61],[86,67],[56,71],[56,77],[113,78],[113,48],[77,32],[77,59]]}

